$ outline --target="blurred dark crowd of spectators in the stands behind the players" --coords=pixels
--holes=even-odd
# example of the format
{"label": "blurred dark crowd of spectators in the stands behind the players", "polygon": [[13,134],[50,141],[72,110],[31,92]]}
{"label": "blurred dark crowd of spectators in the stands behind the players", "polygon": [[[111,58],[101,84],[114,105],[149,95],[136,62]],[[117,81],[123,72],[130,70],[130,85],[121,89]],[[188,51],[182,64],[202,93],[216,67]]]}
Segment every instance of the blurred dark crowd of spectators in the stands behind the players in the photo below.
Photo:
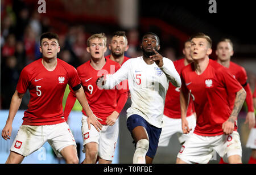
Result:
{"label": "blurred dark crowd of spectators in the stands behind the players", "polygon": [[[58,58],[63,59],[74,67],[90,59],[86,52],[86,40],[93,34],[92,29],[86,30],[83,23],[69,24],[66,31],[54,28],[51,20],[40,15],[37,10],[31,8],[23,1],[6,0],[1,8],[1,101],[0,109],[9,109],[11,97],[16,88],[20,71],[24,66],[39,59],[40,35],[52,31],[59,34],[61,51]],[[61,28],[61,26],[59,26]],[[102,29],[102,32],[105,32]],[[59,32],[61,31],[61,32]],[[97,31],[97,30],[96,30]],[[109,31],[109,30],[108,30]],[[105,32],[110,41],[112,33]],[[129,49],[125,53],[127,57],[141,56],[139,48],[141,39],[138,29],[126,31]],[[176,59],[177,53],[172,47],[161,49],[165,57]],[[108,50],[105,55],[110,54]],[[30,96],[25,95],[20,109],[27,109]]]}

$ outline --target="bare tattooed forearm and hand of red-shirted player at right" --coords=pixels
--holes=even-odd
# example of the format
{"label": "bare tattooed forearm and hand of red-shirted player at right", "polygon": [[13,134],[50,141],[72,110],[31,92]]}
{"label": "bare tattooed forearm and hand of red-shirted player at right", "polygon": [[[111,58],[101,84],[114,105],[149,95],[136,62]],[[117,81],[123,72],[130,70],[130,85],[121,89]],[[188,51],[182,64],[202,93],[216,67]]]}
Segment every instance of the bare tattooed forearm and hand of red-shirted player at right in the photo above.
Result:
{"label": "bare tattooed forearm and hand of red-shirted player at right", "polygon": [[236,94],[236,99],[234,102],[234,108],[232,110],[232,113],[230,114],[229,118],[227,121],[225,121],[222,124],[222,129],[225,134],[232,134],[234,130],[234,122],[237,119],[237,116],[242,108],[243,102],[245,101],[246,98],[246,91],[245,89],[241,89],[240,91],[237,92]]}

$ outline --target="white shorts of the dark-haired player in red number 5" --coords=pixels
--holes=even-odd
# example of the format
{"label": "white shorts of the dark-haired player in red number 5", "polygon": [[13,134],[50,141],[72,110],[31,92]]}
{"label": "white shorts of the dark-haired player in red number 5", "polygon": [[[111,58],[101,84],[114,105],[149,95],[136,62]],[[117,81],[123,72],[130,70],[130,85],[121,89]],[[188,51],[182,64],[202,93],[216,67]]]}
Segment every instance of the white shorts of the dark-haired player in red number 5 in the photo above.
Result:
{"label": "white shorts of the dark-haired player in red number 5", "polygon": [[76,146],[75,138],[66,122],[42,126],[22,125],[10,151],[26,157],[37,151],[46,142],[51,145],[57,157],[62,157],[60,151],[64,147]]}

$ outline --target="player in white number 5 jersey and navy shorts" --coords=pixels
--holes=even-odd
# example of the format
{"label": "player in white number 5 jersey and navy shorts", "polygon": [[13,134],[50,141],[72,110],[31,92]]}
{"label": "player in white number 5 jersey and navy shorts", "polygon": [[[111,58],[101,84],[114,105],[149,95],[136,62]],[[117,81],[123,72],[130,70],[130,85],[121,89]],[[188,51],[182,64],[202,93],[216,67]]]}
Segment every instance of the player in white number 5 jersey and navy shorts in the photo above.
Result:
{"label": "player in white number 5 jersey and navy shorts", "polygon": [[98,78],[97,85],[110,89],[127,79],[131,93],[131,107],[127,110],[127,127],[136,143],[133,163],[152,163],[163,127],[163,109],[166,92],[171,82],[181,86],[174,63],[163,58],[159,37],[146,33],[142,37],[143,56],[123,63],[113,75]]}

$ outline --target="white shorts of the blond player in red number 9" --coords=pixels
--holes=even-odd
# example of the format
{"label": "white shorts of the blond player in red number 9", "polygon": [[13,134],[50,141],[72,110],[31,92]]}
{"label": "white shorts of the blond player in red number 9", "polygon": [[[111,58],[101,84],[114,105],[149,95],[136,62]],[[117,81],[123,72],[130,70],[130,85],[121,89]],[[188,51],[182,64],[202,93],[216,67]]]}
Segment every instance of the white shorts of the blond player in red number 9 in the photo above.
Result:
{"label": "white shorts of the blond player in red number 9", "polygon": [[[98,156],[101,159],[113,161],[115,146],[117,145],[119,125],[118,119],[113,126],[103,125],[102,130],[98,132],[96,128],[91,124],[90,130],[88,129],[87,117],[82,115],[82,140],[84,146],[90,142],[96,142],[98,144]],[[82,152],[85,152],[82,150]]]}

